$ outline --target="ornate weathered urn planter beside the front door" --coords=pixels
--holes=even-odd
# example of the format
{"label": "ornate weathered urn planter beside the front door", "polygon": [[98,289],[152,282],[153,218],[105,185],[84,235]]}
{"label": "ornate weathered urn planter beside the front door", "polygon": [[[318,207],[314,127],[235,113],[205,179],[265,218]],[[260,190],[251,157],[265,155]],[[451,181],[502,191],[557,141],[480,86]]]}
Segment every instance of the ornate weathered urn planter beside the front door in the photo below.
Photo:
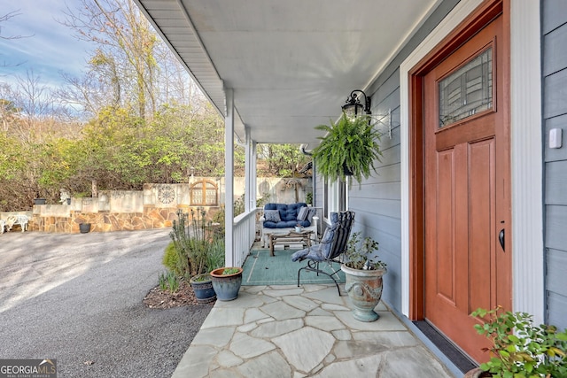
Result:
{"label": "ornate weathered urn planter beside the front door", "polygon": [[345,290],[353,304],[353,318],[360,321],[376,321],[380,317],[374,308],[382,298],[382,276],[386,268],[376,270],[353,269],[340,266],[345,272]]}

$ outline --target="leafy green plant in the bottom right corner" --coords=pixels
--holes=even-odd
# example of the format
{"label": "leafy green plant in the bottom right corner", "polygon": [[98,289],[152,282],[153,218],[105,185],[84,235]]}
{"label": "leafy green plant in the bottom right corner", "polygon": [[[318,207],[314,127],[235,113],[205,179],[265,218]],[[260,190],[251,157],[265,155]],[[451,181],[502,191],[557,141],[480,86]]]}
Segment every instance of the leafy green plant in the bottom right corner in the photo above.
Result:
{"label": "leafy green plant in the bottom right corner", "polygon": [[[491,343],[490,360],[466,377],[567,377],[567,329],[533,325],[526,312],[479,308],[471,313],[480,320],[475,328]],[[484,374],[484,375],[483,375]]]}

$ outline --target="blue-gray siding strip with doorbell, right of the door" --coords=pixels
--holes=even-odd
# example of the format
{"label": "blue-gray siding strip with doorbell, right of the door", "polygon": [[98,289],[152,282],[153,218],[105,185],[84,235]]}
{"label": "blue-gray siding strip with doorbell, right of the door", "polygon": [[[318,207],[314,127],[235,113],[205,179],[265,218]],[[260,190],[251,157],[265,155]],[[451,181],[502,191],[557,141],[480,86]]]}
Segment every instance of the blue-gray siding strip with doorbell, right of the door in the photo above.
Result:
{"label": "blue-gray siding strip with doorbell, right of the door", "polygon": [[[547,321],[567,328],[567,2],[542,1]],[[563,147],[549,149],[552,128]]]}

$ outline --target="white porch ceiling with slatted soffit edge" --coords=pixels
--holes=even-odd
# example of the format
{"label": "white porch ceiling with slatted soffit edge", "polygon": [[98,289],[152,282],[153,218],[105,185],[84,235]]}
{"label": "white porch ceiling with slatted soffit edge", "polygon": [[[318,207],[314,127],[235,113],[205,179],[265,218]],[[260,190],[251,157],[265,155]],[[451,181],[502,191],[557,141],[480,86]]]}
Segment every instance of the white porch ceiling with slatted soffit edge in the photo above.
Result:
{"label": "white porch ceiling with slatted soffit edge", "polygon": [[440,0],[135,1],[242,140],[313,146]]}

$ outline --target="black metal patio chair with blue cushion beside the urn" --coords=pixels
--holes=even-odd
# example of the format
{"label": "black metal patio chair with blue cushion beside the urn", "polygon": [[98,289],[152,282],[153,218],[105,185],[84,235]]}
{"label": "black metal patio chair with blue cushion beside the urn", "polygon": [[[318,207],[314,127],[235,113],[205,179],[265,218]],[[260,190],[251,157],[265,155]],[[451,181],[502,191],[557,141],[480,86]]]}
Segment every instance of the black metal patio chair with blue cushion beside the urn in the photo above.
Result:
{"label": "black metal patio chair with blue cushion beside the urn", "polygon": [[[332,263],[341,263],[342,254],[346,251],[346,243],[351,234],[354,222],[354,212],[331,212],[331,224],[325,229],[322,235],[321,242],[316,243],[305,250],[300,250],[293,255],[293,261],[307,260],[307,266],[302,266],[298,271],[298,287],[299,279],[302,270],[308,272],[315,272],[317,275],[326,274],[330,277],[335,285],[337,285],[338,295],[340,296],[340,289],[338,287],[337,278],[335,277],[340,269],[335,270],[332,268]],[[331,267],[332,274],[322,270],[319,264],[328,264]]]}

